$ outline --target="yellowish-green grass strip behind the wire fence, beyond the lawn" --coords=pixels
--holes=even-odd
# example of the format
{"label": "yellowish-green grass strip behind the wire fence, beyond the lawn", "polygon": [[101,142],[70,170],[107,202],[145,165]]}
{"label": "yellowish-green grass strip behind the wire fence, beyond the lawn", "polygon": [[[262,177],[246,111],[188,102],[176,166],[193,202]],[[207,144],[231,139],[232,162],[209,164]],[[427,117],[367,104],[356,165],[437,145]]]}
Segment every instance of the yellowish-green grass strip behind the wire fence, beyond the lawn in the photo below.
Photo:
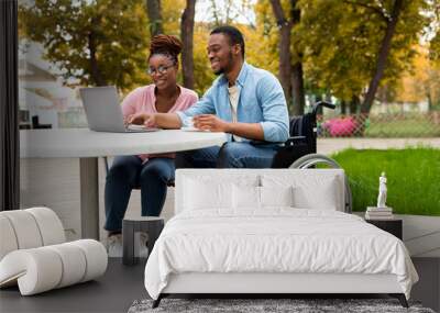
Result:
{"label": "yellowish-green grass strip behind the wire fence, beyond the lawn", "polygon": [[438,137],[440,125],[422,116],[405,119],[372,118],[365,130],[366,137]]}

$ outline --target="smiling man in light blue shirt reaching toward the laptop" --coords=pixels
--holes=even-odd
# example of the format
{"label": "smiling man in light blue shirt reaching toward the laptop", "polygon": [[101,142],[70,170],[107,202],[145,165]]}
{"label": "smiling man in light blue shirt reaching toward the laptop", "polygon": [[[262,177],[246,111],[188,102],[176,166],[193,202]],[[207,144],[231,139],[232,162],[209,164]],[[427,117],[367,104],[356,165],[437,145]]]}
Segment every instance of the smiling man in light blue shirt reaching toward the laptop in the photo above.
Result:
{"label": "smiling man in light blue shirt reaching toward the laptop", "polygon": [[219,77],[201,100],[186,111],[142,113],[129,122],[229,134],[222,147],[179,153],[180,167],[271,167],[278,145],[288,138],[287,105],[279,81],[244,60],[243,35],[233,26],[219,26],[210,33],[208,57]]}

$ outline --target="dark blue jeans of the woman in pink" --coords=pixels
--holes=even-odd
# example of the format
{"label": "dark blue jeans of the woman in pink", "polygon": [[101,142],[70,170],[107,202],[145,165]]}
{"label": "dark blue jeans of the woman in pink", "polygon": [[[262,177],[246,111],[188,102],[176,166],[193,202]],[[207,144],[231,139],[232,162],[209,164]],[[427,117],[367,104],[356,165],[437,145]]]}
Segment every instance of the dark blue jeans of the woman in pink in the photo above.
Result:
{"label": "dark blue jeans of the woman in pink", "polygon": [[136,156],[116,157],[106,179],[105,228],[110,232],[122,230],[133,188],[141,188],[142,216],[158,216],[166,199],[166,185],[174,180],[174,171],[172,158],[152,158],[142,164]]}

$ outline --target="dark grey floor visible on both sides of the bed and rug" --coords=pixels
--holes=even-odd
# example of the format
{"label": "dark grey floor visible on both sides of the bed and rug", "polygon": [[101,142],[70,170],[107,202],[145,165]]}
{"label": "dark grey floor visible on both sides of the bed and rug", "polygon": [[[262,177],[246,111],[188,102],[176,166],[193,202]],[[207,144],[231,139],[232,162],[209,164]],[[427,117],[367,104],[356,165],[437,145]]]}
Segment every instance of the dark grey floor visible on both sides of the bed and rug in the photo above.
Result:
{"label": "dark grey floor visible on both sides of the bed and rug", "polygon": [[[134,300],[146,299],[144,264],[127,267],[120,259],[109,259],[103,277],[96,281],[57,289],[32,297],[21,297],[18,288],[0,291],[0,312],[127,312]],[[415,258],[420,276],[411,292],[413,300],[440,310],[440,259]]]}

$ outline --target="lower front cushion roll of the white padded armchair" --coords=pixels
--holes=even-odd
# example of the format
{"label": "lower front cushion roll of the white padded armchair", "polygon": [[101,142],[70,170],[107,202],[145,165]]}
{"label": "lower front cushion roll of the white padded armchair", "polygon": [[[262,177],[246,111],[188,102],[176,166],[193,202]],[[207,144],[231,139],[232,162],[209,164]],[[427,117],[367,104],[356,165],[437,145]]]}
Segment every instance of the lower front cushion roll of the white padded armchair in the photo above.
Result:
{"label": "lower front cushion roll of the white padded armchair", "polygon": [[106,248],[91,239],[15,250],[0,261],[0,286],[18,280],[21,294],[31,295],[95,279],[107,260]]}

